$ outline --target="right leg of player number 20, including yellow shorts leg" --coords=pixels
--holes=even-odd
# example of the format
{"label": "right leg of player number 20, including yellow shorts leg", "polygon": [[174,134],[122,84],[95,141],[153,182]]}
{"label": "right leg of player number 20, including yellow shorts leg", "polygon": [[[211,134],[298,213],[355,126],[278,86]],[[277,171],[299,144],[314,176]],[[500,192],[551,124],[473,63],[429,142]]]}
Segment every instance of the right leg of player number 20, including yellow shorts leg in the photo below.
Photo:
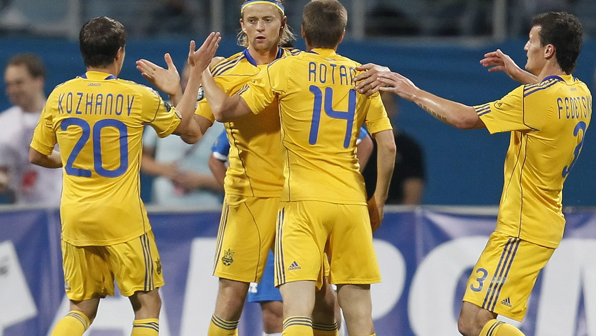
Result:
{"label": "right leg of player number 20, including yellow shorts leg", "polygon": [[135,313],[131,335],[157,336],[162,308],[158,288],[164,281],[153,231],[106,250],[120,293],[129,298]]}

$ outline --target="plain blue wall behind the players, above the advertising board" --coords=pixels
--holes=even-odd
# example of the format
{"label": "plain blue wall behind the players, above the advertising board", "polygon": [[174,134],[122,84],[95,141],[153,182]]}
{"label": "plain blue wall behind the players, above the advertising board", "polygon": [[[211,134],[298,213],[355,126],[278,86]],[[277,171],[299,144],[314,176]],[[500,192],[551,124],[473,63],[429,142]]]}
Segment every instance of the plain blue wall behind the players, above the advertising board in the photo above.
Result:
{"label": "plain blue wall behind the players, above the advertising board", "polygon": [[[200,43],[204,36],[195,36]],[[188,53],[188,39],[131,40],[126,46],[125,64],[120,78],[148,84],[135,69],[135,61],[147,58],[162,66],[164,53],[171,53],[182,68]],[[517,86],[504,73],[489,73],[479,61],[488,51],[501,48],[520,66],[526,61],[523,51],[525,39],[511,39],[501,43],[420,42],[424,40],[369,39],[364,42],[346,41],[339,53],[361,63],[374,62],[389,66],[414,81],[418,87],[442,97],[473,105],[496,100]],[[482,41],[482,40],[480,40]],[[303,48],[300,45],[299,48]],[[449,43],[449,44],[448,44]],[[0,64],[16,53],[36,53],[48,67],[46,93],[67,79],[85,71],[78,44],[65,39],[0,38]],[[218,55],[230,56],[241,48],[234,38],[225,38]],[[583,46],[575,76],[594,88],[596,41]],[[181,70],[181,69],[180,69]],[[0,97],[0,110],[9,106],[7,98]],[[435,120],[428,113],[405,100],[399,100],[396,126],[412,135],[423,147],[426,158],[427,183],[424,204],[438,205],[496,205],[503,184],[503,161],[509,135],[489,135],[486,130],[461,131]],[[3,127],[8,127],[3,125]],[[587,132],[582,154],[573,167],[564,190],[567,206],[596,205],[596,179],[591,178],[596,164],[596,137]],[[144,199],[149,201],[151,180],[144,178]]]}

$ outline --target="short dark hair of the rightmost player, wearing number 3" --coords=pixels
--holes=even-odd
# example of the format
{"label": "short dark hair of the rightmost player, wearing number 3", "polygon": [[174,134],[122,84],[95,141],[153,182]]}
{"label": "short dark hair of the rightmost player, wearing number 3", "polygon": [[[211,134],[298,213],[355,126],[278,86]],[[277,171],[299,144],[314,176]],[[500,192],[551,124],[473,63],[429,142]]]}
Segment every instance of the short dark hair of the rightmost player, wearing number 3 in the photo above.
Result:
{"label": "short dark hair of the rightmost player, wearing number 3", "polygon": [[583,29],[578,18],[566,12],[538,14],[532,19],[532,27],[540,26],[540,44],[552,44],[555,57],[565,73],[572,73],[582,51]]}

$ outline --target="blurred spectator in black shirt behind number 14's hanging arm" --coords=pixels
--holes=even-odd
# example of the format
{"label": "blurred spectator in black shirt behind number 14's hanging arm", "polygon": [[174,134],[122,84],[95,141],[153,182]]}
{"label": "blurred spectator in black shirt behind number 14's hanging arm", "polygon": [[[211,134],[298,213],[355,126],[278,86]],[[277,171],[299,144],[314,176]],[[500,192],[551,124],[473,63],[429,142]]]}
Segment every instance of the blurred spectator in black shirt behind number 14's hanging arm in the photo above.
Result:
{"label": "blurred spectator in black shirt behind number 14's hanging arm", "polygon": [[[387,116],[392,120],[395,134],[395,168],[389,186],[386,204],[420,204],[424,191],[424,157],[420,145],[397,127],[395,120],[398,106],[395,95],[381,93]],[[374,140],[373,140],[374,141]],[[367,195],[373,195],[377,184],[377,146],[362,172],[367,186]]]}

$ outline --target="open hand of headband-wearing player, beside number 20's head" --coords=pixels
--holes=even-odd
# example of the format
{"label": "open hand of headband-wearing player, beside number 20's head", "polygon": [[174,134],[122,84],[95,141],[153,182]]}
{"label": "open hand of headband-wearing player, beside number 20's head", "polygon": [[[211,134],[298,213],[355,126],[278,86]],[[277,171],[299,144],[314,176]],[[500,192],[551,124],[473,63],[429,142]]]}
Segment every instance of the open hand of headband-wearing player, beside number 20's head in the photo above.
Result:
{"label": "open hand of headband-wearing player, beside number 20's head", "polygon": [[164,93],[169,95],[182,93],[180,75],[172,61],[172,57],[170,54],[165,54],[163,58],[166,60],[167,70],[145,59],[136,61],[136,69],[141,72],[143,78],[147,79],[147,81]]}

